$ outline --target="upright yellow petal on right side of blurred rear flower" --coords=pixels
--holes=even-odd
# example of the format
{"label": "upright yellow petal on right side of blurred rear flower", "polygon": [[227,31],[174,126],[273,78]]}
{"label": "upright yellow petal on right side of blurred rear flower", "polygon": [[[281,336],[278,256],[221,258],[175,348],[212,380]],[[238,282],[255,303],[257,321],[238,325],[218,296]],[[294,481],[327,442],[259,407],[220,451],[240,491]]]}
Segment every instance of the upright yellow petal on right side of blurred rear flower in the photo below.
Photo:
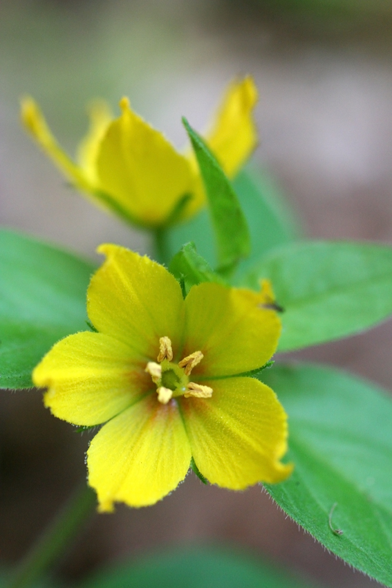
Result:
{"label": "upright yellow petal on right side of blurred rear flower", "polygon": [[257,89],[252,77],[230,84],[206,140],[225,173],[234,177],[257,145],[253,109]]}

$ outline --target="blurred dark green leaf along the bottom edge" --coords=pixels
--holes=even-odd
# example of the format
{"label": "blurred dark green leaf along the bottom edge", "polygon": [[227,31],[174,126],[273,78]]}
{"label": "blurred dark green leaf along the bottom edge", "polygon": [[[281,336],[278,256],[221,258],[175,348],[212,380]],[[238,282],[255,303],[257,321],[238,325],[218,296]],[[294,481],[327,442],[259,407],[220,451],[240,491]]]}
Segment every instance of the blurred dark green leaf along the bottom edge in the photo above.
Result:
{"label": "blurred dark green leaf along the bottom edge", "polygon": [[144,557],[94,574],[80,588],[309,588],[248,555],[216,546],[191,547]]}

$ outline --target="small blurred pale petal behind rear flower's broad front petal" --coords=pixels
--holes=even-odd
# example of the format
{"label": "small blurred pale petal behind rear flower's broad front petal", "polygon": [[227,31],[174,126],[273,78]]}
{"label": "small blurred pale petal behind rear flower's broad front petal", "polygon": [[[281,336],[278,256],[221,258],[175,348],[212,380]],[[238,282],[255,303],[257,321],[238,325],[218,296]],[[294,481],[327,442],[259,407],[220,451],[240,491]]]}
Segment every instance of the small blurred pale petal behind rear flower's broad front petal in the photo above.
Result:
{"label": "small blurred pale petal behind rear flower's broad front petal", "polygon": [[104,100],[93,102],[88,113],[90,128],[78,147],[77,160],[91,183],[97,185],[97,154],[113,115]]}

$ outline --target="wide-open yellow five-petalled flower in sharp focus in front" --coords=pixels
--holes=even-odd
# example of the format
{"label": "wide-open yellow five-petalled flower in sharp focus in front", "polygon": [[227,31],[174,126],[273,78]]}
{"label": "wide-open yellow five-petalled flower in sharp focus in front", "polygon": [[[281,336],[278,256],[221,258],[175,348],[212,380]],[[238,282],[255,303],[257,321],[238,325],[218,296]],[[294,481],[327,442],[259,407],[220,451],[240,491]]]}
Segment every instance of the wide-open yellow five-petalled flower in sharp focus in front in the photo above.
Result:
{"label": "wide-open yellow five-petalled flower in sharp focus in front", "polygon": [[277,347],[270,292],[203,283],[183,300],[155,261],[114,245],[99,251],[106,261],[87,294],[97,332],[59,341],[32,378],[48,388],[55,416],[105,423],[87,452],[100,510],[155,503],[191,457],[209,482],[233,490],[285,479],[286,414],[272,389],[241,376]]}

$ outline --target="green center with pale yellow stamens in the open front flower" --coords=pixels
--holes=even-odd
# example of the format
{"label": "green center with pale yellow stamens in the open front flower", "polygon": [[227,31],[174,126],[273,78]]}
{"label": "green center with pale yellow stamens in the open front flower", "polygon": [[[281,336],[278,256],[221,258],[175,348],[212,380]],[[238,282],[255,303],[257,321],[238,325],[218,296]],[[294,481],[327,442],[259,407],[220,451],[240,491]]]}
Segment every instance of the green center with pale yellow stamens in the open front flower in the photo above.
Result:
{"label": "green center with pale yellow stamens in the open front flower", "polygon": [[203,359],[201,351],[194,351],[183,358],[178,364],[173,360],[173,349],[169,337],[161,337],[159,340],[159,353],[157,362],[149,361],[145,371],[150,374],[151,380],[156,384],[158,401],[167,404],[176,396],[194,396],[195,398],[211,398],[212,388],[194,382],[189,382],[192,369]]}

